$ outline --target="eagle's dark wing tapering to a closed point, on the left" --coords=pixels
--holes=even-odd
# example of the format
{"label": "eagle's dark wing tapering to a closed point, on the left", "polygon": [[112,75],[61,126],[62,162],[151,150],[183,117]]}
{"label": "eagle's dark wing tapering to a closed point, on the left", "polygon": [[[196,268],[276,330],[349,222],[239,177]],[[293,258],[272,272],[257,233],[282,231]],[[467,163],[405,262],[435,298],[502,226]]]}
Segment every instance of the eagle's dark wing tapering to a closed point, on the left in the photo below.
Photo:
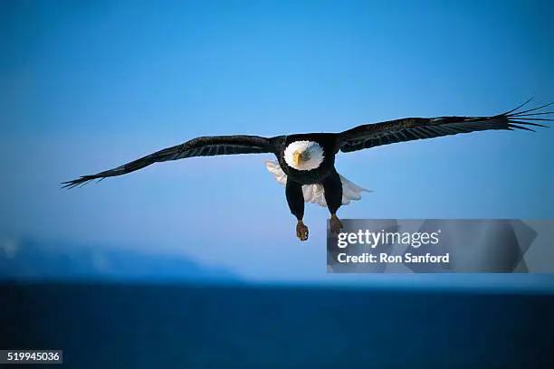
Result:
{"label": "eagle's dark wing tapering to a closed point, on the left", "polygon": [[110,176],[126,175],[154,163],[184,159],[186,157],[273,153],[275,151],[274,143],[277,142],[278,138],[244,135],[196,137],[186,141],[184,144],[167,147],[148,156],[140,157],[123,166],[118,166],[96,175],[82,175],[72,181],[63,182],[62,185],[63,188],[72,188],[76,185],[84,185],[94,179],[102,180]]}

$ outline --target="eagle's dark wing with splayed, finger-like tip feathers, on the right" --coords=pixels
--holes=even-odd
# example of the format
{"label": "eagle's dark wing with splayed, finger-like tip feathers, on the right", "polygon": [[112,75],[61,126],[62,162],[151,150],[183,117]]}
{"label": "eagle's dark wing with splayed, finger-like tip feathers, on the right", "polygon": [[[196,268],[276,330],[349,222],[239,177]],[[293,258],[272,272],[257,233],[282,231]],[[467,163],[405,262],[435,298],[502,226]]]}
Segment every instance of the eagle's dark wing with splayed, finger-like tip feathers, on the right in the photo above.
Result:
{"label": "eagle's dark wing with splayed, finger-like tip feathers, on the right", "polygon": [[524,126],[547,127],[531,121],[554,121],[551,118],[536,118],[552,111],[538,112],[554,102],[539,108],[517,112],[530,100],[516,109],[492,117],[438,117],[438,118],[402,118],[387,122],[366,124],[339,133],[339,150],[345,153],[369,147],[457,135],[489,129],[533,129]]}

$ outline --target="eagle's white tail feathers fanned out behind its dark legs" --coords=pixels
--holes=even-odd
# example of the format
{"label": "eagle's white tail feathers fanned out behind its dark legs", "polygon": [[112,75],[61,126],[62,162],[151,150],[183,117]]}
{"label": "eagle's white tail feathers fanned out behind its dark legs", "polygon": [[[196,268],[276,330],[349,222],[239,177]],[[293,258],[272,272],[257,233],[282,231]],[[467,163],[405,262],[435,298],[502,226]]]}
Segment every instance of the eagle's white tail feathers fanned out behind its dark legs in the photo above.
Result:
{"label": "eagle's white tail feathers fanned out behind its dark legs", "polygon": [[[265,167],[272,175],[275,175],[275,179],[281,185],[287,184],[287,175],[282,171],[281,166],[276,160],[267,160]],[[348,205],[352,200],[360,200],[362,192],[371,192],[359,185],[350,182],[348,179],[339,175],[340,182],[342,182],[342,204]],[[321,206],[327,206],[325,202],[325,195],[323,191],[323,185],[303,185],[302,192],[304,193],[304,201],[306,203],[319,203]]]}

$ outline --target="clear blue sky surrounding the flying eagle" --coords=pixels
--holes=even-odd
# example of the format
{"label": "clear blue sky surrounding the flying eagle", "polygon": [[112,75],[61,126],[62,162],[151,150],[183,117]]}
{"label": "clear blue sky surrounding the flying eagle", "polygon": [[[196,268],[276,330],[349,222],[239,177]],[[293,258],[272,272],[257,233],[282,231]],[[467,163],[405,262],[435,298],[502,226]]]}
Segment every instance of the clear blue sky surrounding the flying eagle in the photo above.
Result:
{"label": "clear blue sky surrounding the flying eagle", "polygon": [[[339,278],[325,275],[327,210],[307,205],[310,241],[298,242],[263,166],[271,156],[187,159],[70,192],[59,183],[196,136],[340,131],[554,99],[546,1],[0,7],[0,232],[185,254],[253,280]],[[339,214],[554,218],[553,140],[551,129],[485,132],[341,155],[339,173],[375,192]]]}

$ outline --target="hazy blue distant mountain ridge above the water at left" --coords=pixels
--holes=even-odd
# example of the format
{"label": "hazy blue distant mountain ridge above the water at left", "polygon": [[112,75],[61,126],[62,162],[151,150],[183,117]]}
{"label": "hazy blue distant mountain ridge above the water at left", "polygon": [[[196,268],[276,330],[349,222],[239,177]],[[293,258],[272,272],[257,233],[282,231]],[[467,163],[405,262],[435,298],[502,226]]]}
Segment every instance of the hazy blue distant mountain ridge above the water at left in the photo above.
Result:
{"label": "hazy blue distant mountain ridge above the water at left", "polygon": [[183,255],[32,239],[0,240],[0,279],[241,280]]}

